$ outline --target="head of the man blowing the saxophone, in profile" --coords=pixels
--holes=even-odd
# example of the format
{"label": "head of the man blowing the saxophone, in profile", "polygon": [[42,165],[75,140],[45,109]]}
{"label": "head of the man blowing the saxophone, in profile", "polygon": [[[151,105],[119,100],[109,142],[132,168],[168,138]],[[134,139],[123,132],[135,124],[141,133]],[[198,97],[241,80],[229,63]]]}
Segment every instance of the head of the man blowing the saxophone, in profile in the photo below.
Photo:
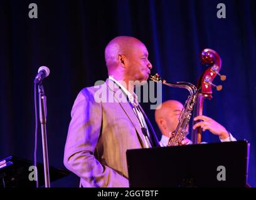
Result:
{"label": "head of the man blowing the saxophone, in profile", "polygon": [[144,84],[149,78],[152,65],[146,46],[135,37],[119,36],[105,48],[105,61],[109,76],[122,81],[131,93],[136,84]]}

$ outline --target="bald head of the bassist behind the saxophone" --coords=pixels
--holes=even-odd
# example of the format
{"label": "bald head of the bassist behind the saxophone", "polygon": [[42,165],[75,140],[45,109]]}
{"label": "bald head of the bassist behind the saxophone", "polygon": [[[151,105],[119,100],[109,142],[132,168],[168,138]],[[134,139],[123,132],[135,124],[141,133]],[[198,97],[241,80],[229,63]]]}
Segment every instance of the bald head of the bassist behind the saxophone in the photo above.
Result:
{"label": "bald head of the bassist behind the saxophone", "polygon": [[179,115],[183,109],[183,104],[176,100],[165,101],[157,107],[155,111],[155,120],[165,136],[175,131],[179,123]]}

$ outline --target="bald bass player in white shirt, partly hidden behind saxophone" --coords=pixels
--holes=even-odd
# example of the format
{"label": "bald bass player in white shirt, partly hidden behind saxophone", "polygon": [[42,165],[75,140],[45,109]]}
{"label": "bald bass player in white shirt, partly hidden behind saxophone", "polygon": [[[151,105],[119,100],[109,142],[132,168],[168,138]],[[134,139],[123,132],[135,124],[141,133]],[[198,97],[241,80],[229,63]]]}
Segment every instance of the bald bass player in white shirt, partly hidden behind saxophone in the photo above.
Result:
{"label": "bald bass player in white shirt, partly hidden behind saxophone", "polygon": [[[179,123],[179,115],[182,109],[183,104],[175,100],[165,101],[156,109],[155,120],[162,134],[161,141],[159,142],[161,146],[168,146],[169,137]],[[201,120],[201,122],[193,126],[193,129],[201,127],[203,131],[208,130],[212,134],[219,136],[221,142],[236,141],[225,127],[209,117],[196,116],[193,120]],[[188,130],[189,127],[186,128],[186,135],[188,135]],[[188,138],[185,138],[181,144],[192,144],[192,142]]]}

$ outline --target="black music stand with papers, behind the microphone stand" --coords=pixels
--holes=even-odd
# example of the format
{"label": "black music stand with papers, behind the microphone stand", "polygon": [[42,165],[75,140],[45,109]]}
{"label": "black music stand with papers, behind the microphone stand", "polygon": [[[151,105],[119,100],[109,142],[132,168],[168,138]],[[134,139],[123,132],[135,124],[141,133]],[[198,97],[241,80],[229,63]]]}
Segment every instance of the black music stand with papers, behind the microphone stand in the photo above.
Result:
{"label": "black music stand with papers, behind the microphone stand", "polygon": [[[0,161],[0,188],[36,187],[36,181],[29,181],[29,173],[32,172],[32,170],[29,171],[29,167],[33,165],[32,161],[14,156],[4,158],[2,162]],[[43,164],[37,163],[37,169],[38,185],[42,187],[45,185]],[[69,174],[71,174],[70,171],[50,167],[51,182],[64,178]]]}

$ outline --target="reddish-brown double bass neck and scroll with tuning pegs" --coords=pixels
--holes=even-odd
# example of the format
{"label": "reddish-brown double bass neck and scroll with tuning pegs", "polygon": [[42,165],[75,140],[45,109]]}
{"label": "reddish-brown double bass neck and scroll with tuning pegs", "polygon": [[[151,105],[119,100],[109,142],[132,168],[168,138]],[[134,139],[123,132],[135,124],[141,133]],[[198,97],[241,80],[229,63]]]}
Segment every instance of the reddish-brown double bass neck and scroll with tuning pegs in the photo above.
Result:
{"label": "reddish-brown double bass neck and scroll with tuning pegs", "polygon": [[[213,84],[213,80],[216,76],[220,76],[221,81],[225,81],[226,76],[220,74],[221,69],[221,58],[213,49],[204,49],[200,55],[202,64],[205,64],[208,68],[198,79],[197,88],[198,94],[196,97],[196,105],[193,112],[193,118],[203,114],[203,101],[205,99],[212,99],[212,87],[216,88],[217,91],[222,89],[222,86],[216,86]],[[193,121],[193,126],[198,121]],[[193,144],[201,143],[201,127],[193,129],[191,131],[191,141]]]}

